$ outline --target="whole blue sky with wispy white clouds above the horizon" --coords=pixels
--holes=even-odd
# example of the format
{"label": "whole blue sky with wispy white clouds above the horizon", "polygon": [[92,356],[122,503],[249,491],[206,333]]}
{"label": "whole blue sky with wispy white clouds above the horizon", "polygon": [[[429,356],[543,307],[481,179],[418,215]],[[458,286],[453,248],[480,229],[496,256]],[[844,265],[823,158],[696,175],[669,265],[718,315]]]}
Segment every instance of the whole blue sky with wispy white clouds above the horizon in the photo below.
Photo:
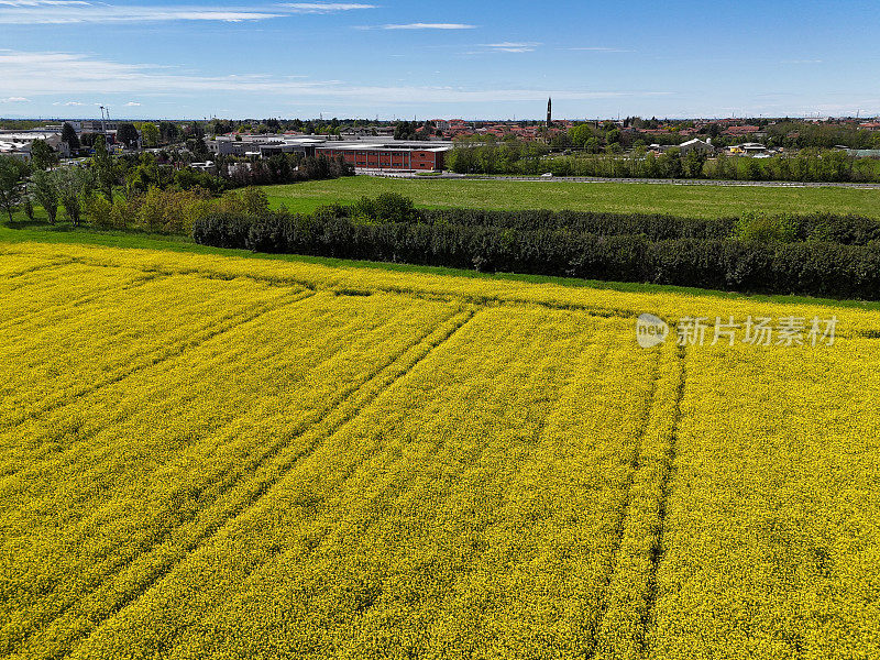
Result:
{"label": "whole blue sky with wispy white clouds above the horizon", "polygon": [[876,0],[0,0],[0,116],[876,116],[878,29]]}

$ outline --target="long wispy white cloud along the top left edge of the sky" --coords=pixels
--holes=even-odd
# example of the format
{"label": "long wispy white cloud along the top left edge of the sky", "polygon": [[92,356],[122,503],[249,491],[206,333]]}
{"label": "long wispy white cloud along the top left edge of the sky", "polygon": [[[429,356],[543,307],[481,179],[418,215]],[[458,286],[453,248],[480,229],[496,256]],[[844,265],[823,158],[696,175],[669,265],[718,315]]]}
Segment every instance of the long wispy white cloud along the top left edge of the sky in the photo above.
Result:
{"label": "long wispy white cloud along the top left edge of the sky", "polygon": [[199,4],[120,6],[82,0],[0,0],[0,24],[136,23],[155,21],[262,21],[292,14],[322,14],[374,4],[351,2],[289,2],[253,9]]}

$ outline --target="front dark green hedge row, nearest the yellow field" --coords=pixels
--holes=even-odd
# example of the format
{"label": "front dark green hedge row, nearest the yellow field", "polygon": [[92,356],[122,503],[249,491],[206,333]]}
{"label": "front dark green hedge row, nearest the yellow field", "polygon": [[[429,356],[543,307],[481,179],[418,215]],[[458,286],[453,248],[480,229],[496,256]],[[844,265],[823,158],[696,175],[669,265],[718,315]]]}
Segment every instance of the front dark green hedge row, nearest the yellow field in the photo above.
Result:
{"label": "front dark green hedge row, nearest the yellow field", "polygon": [[452,223],[273,213],[209,216],[198,243],[258,252],[673,284],[754,293],[880,299],[880,243],[745,243],[644,234],[600,235]]}

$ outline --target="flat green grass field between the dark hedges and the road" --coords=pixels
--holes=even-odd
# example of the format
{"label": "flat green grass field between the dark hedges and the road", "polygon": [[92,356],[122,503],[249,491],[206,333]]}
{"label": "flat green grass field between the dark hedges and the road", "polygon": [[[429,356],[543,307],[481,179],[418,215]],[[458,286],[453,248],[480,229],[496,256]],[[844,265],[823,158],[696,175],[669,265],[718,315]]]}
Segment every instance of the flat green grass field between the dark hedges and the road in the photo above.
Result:
{"label": "flat green grass field between the dark hedges and the road", "polygon": [[308,213],[324,204],[399,193],[417,206],[485,209],[551,209],[669,213],[690,218],[770,213],[856,213],[880,218],[880,190],[856,188],[761,188],[672,184],[576,184],[571,182],[408,180],[358,176],[265,188],[274,207]]}

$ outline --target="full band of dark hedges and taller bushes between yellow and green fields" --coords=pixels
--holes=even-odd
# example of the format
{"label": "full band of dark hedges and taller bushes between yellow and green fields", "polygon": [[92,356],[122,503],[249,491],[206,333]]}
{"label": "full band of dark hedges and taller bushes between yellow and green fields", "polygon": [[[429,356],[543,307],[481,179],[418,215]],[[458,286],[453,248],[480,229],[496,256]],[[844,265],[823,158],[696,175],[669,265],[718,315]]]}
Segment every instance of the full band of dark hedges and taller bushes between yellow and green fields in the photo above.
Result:
{"label": "full band of dark hedges and taller bushes between yellow and green fields", "polygon": [[752,293],[880,299],[880,223],[851,216],[668,216],[419,210],[394,194],[310,216],[211,213],[197,242]]}

